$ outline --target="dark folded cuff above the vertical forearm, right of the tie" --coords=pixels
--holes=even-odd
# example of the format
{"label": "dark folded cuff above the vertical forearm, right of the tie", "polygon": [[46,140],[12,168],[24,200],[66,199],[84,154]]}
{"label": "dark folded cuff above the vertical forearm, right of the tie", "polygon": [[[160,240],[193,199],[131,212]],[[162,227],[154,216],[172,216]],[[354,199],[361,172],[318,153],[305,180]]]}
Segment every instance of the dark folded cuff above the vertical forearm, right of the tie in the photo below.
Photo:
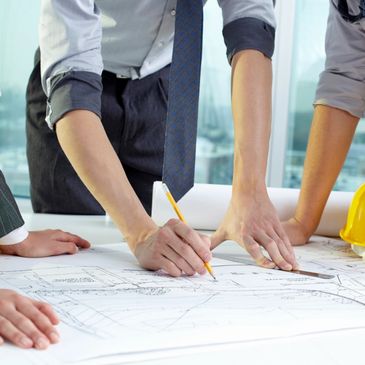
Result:
{"label": "dark folded cuff above the vertical forearm, right of the tie", "polygon": [[271,58],[275,47],[275,28],[257,18],[236,19],[223,28],[227,46],[228,62],[233,56],[245,49],[254,49]]}

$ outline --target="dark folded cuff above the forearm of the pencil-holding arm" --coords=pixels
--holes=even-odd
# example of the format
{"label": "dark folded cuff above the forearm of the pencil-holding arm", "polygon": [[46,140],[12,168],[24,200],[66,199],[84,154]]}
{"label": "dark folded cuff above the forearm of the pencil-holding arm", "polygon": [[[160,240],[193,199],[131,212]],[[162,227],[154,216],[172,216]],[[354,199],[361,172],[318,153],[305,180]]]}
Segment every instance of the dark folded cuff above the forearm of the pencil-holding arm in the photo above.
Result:
{"label": "dark folded cuff above the forearm of the pencil-holding arm", "polygon": [[101,76],[87,71],[69,71],[48,81],[50,90],[47,102],[48,126],[54,124],[71,110],[89,110],[101,117]]}

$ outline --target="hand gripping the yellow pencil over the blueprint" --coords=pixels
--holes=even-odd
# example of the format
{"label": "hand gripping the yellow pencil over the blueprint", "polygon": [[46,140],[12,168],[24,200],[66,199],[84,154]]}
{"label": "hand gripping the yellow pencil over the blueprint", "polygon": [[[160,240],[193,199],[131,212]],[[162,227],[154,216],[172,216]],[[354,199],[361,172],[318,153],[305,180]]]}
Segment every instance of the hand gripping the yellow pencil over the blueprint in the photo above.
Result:
{"label": "hand gripping the yellow pencil over the blueprint", "polygon": [[170,219],[146,240],[137,243],[135,255],[145,269],[163,269],[171,276],[205,274],[212,258],[210,239],[177,219]]}

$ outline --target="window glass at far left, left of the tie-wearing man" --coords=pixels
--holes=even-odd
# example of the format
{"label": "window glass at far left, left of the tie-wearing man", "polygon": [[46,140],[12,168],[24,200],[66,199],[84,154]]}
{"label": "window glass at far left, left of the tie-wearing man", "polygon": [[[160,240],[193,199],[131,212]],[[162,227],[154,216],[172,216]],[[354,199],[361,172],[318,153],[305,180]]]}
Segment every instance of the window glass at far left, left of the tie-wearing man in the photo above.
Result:
{"label": "window glass at far left, left of the tie-wearing man", "polygon": [[25,89],[38,44],[39,0],[0,0],[0,169],[14,194],[29,195]]}

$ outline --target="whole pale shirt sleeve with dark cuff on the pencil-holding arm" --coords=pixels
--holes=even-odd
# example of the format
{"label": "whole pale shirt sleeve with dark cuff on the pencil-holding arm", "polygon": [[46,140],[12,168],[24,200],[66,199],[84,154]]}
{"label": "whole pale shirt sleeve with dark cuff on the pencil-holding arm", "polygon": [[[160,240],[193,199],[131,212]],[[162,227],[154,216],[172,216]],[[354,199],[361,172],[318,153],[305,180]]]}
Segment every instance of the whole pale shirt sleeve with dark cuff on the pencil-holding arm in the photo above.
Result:
{"label": "whole pale shirt sleeve with dark cuff on the pencil-holding arm", "polygon": [[50,128],[75,109],[100,116],[101,35],[100,11],[93,0],[42,0],[41,76]]}

